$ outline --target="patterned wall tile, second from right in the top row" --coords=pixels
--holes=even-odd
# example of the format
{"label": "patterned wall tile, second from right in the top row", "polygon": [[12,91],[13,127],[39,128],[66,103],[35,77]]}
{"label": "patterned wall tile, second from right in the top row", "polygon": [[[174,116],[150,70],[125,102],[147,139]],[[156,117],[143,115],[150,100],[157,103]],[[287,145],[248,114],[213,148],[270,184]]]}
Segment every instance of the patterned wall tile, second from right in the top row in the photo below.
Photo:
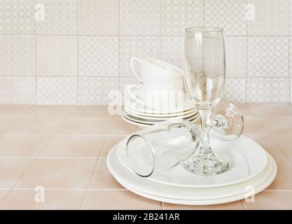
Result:
{"label": "patterned wall tile, second from right in the top row", "polygon": [[205,0],[205,25],[222,27],[225,35],[246,35],[246,1]]}

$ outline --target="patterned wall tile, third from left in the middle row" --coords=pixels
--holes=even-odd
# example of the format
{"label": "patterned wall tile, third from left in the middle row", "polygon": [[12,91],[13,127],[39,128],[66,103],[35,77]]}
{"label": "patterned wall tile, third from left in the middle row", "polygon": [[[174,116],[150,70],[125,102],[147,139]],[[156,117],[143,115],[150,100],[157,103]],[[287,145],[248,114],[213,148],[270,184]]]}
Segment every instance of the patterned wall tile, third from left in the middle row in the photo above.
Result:
{"label": "patterned wall tile, third from left in the middle row", "polygon": [[118,76],[119,38],[110,36],[79,37],[80,76]]}

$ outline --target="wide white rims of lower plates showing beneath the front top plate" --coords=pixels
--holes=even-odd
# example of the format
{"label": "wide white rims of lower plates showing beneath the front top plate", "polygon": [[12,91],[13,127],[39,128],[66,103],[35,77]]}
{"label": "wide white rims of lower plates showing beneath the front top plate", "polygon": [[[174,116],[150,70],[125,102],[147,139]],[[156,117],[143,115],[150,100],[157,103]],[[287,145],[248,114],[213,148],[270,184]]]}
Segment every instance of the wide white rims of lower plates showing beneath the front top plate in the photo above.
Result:
{"label": "wide white rims of lower plates showing beneath the front top plate", "polygon": [[248,181],[214,188],[168,186],[139,177],[125,169],[116,156],[116,150],[116,146],[111,149],[106,163],[111,174],[122,186],[143,197],[174,204],[204,205],[242,200],[249,194],[256,194],[267,188],[277,174],[274,159],[267,155],[268,162],[265,169]]}

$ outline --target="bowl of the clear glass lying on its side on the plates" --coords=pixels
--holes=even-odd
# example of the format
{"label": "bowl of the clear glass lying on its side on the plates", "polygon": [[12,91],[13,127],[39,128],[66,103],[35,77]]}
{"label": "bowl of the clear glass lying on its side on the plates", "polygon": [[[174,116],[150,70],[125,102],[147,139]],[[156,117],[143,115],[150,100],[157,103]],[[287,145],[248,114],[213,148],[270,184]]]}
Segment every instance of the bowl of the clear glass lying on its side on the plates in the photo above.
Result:
{"label": "bowl of the clear glass lying on its side on the plates", "polygon": [[142,177],[167,172],[195,153],[200,144],[200,132],[200,126],[175,119],[132,134],[126,143],[130,167]]}

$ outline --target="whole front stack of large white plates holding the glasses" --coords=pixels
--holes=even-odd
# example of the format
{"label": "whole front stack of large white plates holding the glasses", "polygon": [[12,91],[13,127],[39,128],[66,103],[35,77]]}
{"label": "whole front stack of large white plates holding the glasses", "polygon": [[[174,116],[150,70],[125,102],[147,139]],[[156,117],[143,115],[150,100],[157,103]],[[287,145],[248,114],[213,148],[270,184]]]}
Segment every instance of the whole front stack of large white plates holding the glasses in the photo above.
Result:
{"label": "whole front stack of large white plates holding the glasses", "polygon": [[178,165],[143,178],[130,169],[126,141],[127,137],[111,149],[109,171],[128,190],[160,202],[204,205],[242,200],[267,188],[277,174],[274,159],[255,141],[242,136],[235,141],[211,137],[214,152],[230,162],[230,169],[223,174],[200,176]]}

